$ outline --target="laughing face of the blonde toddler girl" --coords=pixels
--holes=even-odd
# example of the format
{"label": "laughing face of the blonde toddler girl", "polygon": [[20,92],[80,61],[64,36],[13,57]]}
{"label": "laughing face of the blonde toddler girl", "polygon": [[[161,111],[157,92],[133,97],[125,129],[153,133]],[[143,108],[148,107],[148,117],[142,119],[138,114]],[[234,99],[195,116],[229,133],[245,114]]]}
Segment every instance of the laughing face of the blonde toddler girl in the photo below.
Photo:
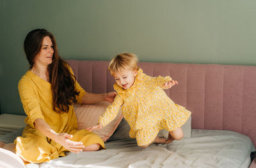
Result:
{"label": "laughing face of the blonde toddler girl", "polygon": [[116,84],[126,90],[132,87],[137,74],[137,71],[124,69],[123,71],[115,72],[113,77]]}

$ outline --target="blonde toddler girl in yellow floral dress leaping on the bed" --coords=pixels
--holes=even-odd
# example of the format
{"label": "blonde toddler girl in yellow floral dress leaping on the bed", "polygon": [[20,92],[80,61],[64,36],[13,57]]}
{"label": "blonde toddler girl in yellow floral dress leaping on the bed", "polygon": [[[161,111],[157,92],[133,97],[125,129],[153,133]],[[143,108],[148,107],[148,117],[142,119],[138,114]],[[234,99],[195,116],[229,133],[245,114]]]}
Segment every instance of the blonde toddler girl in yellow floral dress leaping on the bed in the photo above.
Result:
{"label": "blonde toddler girl in yellow floral dress leaping on the bed", "polygon": [[[115,78],[115,101],[100,116],[98,125],[88,130],[100,129],[113,120],[120,107],[129,123],[130,137],[138,146],[147,147],[151,143],[171,143],[183,137],[180,128],[191,112],[175,104],[162,88],[178,84],[170,76],[151,77],[137,66],[138,57],[132,53],[120,53],[109,63],[109,71]],[[159,130],[169,131],[168,139],[157,136]]]}

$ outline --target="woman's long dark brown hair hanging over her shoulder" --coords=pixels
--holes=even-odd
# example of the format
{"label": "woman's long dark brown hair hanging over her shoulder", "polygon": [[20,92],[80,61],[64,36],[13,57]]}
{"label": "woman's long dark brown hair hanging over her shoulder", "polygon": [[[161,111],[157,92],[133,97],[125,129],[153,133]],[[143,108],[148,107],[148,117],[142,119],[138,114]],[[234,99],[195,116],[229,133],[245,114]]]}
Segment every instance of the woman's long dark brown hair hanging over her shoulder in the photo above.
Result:
{"label": "woman's long dark brown hair hanging over her shoulder", "polygon": [[29,69],[34,65],[35,56],[40,52],[45,36],[51,38],[54,50],[52,63],[48,66],[52,90],[52,108],[57,113],[68,112],[68,106],[77,102],[76,95],[79,94],[75,88],[76,78],[70,73],[68,63],[61,59],[54,36],[45,29],[35,29],[29,32],[25,38],[24,51],[30,65]]}

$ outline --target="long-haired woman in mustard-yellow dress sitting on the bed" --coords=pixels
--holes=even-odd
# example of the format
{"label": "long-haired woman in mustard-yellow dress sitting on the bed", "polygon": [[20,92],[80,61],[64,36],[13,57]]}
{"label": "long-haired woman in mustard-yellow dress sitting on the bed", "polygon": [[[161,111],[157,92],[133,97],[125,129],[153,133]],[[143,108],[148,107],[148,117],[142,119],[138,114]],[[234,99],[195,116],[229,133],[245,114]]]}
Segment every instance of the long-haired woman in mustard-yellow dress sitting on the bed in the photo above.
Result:
{"label": "long-haired woman in mustard-yellow dress sitting on the bed", "polygon": [[40,163],[65,156],[66,151],[104,148],[99,136],[77,130],[73,104],[113,102],[115,92],[90,94],[77,83],[74,73],[58,55],[54,36],[45,29],[28,33],[24,51],[29,71],[19,81],[19,94],[27,118],[15,152],[24,162]]}

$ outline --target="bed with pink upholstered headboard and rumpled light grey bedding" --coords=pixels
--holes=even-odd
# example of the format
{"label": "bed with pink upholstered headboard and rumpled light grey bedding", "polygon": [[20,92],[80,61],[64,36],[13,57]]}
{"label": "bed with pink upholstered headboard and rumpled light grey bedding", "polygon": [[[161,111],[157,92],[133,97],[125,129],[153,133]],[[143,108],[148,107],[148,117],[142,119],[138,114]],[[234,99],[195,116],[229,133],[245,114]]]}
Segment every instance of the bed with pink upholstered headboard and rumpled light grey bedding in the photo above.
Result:
{"label": "bed with pink upholstered headboard and rumpled light grey bedding", "polygon": [[[68,60],[80,85],[88,92],[113,91],[108,61]],[[249,167],[256,144],[256,67],[216,64],[140,62],[150,76],[172,76],[179,85],[165,90],[192,112],[184,139],[170,144],[136,145],[128,136],[122,111],[108,128],[95,132],[107,150],[67,153],[26,167]],[[97,122],[108,103],[76,106],[79,129]],[[96,112],[95,112],[96,111]],[[253,167],[253,160],[251,167]]]}

